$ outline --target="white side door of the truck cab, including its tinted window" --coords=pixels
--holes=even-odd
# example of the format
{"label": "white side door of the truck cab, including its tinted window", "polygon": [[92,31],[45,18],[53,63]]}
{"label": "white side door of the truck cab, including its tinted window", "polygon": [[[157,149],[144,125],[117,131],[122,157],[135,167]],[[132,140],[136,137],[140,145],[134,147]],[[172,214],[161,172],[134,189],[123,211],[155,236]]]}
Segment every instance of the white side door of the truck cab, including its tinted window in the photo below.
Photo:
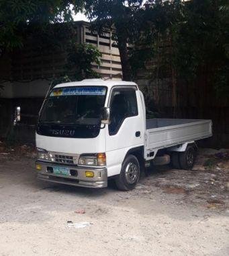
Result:
{"label": "white side door of the truck cab, including its tinted window", "polygon": [[[144,121],[140,95],[133,87],[114,87],[109,98],[110,121],[106,127],[107,167],[113,166],[113,175],[130,148],[144,144]],[[116,168],[115,168],[116,165]],[[117,173],[118,172],[118,173]],[[109,175],[111,176],[111,175]]]}

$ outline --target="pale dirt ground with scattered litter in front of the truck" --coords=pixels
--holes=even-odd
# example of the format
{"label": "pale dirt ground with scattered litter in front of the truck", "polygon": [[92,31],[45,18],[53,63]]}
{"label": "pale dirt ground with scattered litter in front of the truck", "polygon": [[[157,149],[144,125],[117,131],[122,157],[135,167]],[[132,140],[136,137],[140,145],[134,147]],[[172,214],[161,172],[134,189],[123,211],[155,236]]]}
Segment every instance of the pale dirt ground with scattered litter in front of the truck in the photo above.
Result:
{"label": "pale dirt ground with scattered litter in front of the truck", "polygon": [[[229,255],[229,159],[150,169],[134,191],[36,179],[28,147],[0,145],[0,255]],[[17,152],[17,153],[16,153]]]}

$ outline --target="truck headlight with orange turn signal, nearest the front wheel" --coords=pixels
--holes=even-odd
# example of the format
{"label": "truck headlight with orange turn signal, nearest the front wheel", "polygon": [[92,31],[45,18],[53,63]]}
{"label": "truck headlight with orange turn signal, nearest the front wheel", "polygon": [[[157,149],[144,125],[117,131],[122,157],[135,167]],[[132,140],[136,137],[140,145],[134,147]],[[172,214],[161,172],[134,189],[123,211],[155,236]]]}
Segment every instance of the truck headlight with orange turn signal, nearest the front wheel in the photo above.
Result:
{"label": "truck headlight with orange turn signal, nearest the front wheel", "polygon": [[85,166],[105,166],[106,157],[105,153],[81,155],[78,161],[79,165]]}

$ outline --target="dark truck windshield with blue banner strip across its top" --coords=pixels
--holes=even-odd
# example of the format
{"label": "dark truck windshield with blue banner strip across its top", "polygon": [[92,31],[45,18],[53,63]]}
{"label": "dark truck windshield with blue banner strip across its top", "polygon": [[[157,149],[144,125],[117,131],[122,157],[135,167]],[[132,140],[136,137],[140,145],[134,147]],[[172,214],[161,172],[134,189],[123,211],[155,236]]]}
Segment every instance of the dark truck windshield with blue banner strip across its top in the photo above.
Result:
{"label": "dark truck windshield with blue banner strip across its top", "polygon": [[99,125],[106,88],[99,86],[55,88],[40,116],[43,123]]}

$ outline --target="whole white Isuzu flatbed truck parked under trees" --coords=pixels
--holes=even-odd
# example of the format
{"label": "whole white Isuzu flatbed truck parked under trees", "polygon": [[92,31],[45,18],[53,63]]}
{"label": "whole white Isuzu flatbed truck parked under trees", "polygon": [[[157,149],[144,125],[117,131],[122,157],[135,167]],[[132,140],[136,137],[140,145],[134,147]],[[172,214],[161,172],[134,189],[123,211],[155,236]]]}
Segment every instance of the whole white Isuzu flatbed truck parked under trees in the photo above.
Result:
{"label": "whole white Isuzu flatbed truck parked under trees", "polygon": [[195,141],[211,135],[210,120],[146,120],[144,96],[134,82],[58,84],[40,110],[38,179],[95,188],[115,179],[118,189],[128,191],[150,161],[192,168]]}

